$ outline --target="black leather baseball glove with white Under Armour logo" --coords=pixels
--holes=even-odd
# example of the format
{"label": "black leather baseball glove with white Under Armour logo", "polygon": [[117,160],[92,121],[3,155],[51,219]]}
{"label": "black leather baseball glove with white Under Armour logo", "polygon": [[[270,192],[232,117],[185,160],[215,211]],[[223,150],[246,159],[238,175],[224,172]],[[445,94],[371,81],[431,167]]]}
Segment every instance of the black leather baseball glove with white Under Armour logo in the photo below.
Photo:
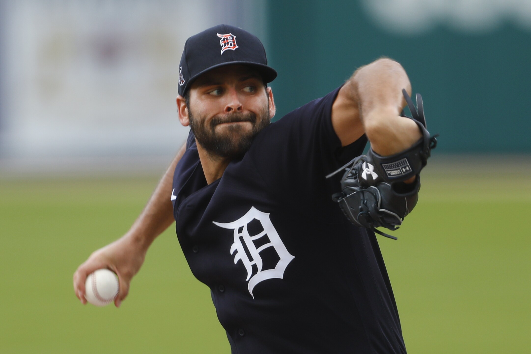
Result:
{"label": "black leather baseball glove with white Under Armour logo", "polygon": [[[402,90],[402,94],[413,115],[408,118],[417,123],[422,138],[396,155],[380,156],[370,149],[367,155],[354,158],[327,176],[330,178],[341,170],[346,170],[341,179],[341,192],[332,195],[332,199],[337,201],[350,222],[395,240],[396,237],[376,230],[375,227],[396,230],[404,217],[413,210],[421,188],[419,173],[426,166],[431,149],[437,145],[437,135],[432,137],[426,130],[421,95],[416,96],[415,108],[406,90]],[[402,116],[405,116],[404,112]],[[416,176],[413,183],[404,183],[413,176]]]}

